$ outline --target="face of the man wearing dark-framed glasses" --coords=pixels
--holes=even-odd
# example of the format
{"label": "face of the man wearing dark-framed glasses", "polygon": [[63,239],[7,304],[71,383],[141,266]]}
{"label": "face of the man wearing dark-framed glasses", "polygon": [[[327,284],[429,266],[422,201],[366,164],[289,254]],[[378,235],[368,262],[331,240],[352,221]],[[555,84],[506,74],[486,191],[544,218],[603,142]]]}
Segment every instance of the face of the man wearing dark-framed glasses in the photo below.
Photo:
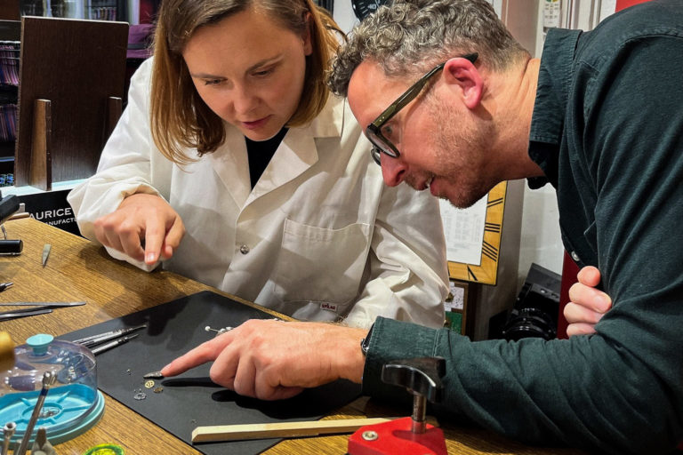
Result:
{"label": "face of the man wearing dark-framed glasses", "polygon": [[[431,88],[382,126],[382,134],[400,152],[398,158],[382,154],[382,175],[391,187],[405,180],[418,191],[430,188],[433,196],[469,207],[496,183],[486,176],[490,132],[478,131],[462,103],[462,91],[443,79],[434,76]],[[349,84],[350,108],[361,127],[371,124],[413,83],[387,78],[371,61],[361,63]]]}

